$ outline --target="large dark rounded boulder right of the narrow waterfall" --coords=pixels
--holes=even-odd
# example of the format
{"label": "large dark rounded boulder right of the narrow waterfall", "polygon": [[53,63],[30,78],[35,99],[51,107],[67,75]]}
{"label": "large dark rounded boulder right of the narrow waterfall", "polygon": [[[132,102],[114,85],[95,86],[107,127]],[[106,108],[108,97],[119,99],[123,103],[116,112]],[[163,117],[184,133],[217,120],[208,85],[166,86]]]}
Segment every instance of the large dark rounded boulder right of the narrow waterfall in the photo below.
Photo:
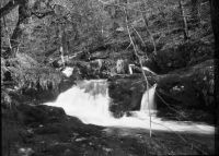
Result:
{"label": "large dark rounded boulder right of the narrow waterfall", "polygon": [[[214,115],[214,60],[160,76],[157,106],[166,112],[205,111]],[[183,113],[184,113],[183,112]]]}

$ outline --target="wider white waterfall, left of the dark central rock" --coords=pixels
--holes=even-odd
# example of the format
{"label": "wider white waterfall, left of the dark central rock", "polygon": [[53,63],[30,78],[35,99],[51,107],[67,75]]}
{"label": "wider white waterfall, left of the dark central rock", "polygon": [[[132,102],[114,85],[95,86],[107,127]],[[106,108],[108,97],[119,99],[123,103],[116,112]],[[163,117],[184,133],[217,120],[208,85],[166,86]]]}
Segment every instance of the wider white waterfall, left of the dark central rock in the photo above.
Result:
{"label": "wider white waterfall, left of the dark central rock", "polygon": [[62,107],[67,115],[78,117],[84,123],[100,124],[111,118],[107,82],[78,81],[77,85],[61,93],[49,106]]}

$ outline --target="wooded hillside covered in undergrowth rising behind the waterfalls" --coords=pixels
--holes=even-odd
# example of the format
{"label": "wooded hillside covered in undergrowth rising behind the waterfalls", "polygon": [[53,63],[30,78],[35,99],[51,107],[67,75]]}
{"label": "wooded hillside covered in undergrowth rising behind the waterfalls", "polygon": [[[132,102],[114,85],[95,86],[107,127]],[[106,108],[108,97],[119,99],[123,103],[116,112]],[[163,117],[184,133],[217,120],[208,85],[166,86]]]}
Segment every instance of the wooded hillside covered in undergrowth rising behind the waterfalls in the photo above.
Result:
{"label": "wooded hillside covered in undergrowth rising behind the waterfalls", "polygon": [[[1,10],[11,0],[4,0]],[[127,26],[138,47],[138,53],[142,58],[149,56],[148,61],[160,67],[161,73],[193,65],[212,57],[212,31],[209,24],[209,3],[206,0],[198,3],[183,0],[188,24],[187,41],[183,37],[183,16],[178,1],[175,0],[14,2],[16,7],[12,5],[13,9],[8,13],[3,12],[3,17],[1,16],[2,53],[10,47],[10,41],[13,43],[15,29],[20,27],[21,32],[14,37],[19,43],[14,44],[15,57],[1,57],[1,82],[8,80],[7,74],[10,74],[15,85],[22,88],[47,89],[57,86],[61,80],[60,73],[50,68],[50,62],[60,59],[61,46],[65,49],[64,56],[80,51],[92,56],[96,51],[107,51],[108,58],[104,62],[105,72],[108,73],[116,73],[116,61],[119,59],[136,63],[137,57],[130,45]],[[21,9],[25,10],[23,14]],[[22,17],[25,20],[21,21]],[[199,23],[193,17],[199,17]],[[157,56],[153,56],[154,49],[158,51]],[[89,61],[82,58],[78,60]],[[147,59],[145,62],[147,64]],[[73,64],[73,61],[70,63]]]}

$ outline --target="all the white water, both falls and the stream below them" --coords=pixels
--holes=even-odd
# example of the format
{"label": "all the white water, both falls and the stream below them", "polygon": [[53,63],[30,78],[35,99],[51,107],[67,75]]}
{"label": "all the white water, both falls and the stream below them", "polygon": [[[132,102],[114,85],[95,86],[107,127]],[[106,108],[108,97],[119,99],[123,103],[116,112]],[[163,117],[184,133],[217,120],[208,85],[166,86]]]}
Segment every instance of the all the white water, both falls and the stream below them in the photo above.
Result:
{"label": "all the white water, both falls and the stream below them", "polygon": [[154,91],[155,85],[143,94],[139,111],[132,111],[131,117],[124,116],[119,119],[114,118],[110,112],[111,99],[108,97],[108,84],[105,80],[79,81],[77,85],[61,93],[55,103],[46,103],[45,105],[62,107],[67,115],[78,117],[83,123],[142,129],[150,129],[150,108],[152,130],[170,131],[171,129],[172,131],[194,133],[215,132],[215,128],[210,125],[162,121],[161,118],[155,117]]}

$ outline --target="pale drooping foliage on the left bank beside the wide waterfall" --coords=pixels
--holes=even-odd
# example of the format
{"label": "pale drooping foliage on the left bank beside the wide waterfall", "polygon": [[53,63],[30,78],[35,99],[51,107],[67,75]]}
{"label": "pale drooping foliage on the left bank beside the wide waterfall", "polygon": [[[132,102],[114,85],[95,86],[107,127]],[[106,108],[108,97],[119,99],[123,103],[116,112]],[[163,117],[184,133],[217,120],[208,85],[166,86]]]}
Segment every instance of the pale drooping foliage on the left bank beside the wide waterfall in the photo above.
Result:
{"label": "pale drooping foliage on the left bank beside the wide waterfall", "polygon": [[[7,63],[8,64],[7,64]],[[11,81],[21,88],[48,89],[57,88],[61,81],[61,74],[54,69],[38,64],[25,53],[18,53],[15,58],[1,62],[1,81],[7,82],[5,73],[10,73]]]}

